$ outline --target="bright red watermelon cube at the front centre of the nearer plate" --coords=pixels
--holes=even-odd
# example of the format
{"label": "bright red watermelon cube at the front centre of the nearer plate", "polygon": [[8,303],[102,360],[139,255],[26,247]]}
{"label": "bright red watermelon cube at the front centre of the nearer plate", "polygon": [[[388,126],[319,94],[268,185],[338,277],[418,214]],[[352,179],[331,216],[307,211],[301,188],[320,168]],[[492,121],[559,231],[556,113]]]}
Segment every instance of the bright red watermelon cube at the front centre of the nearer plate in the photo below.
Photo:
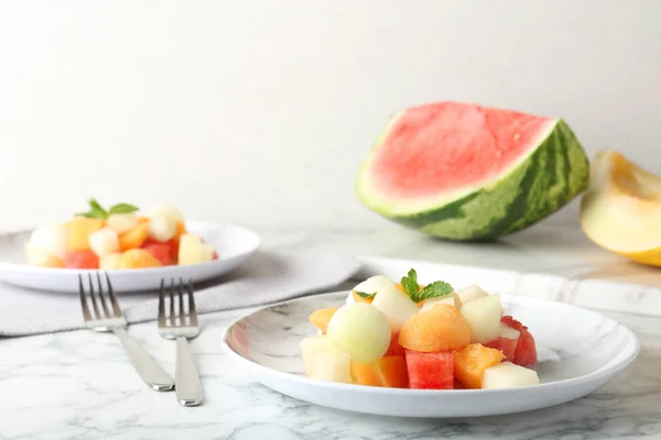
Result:
{"label": "bright red watermelon cube at the front centre of the nearer plate", "polygon": [[452,352],[423,353],[407,350],[409,386],[415,389],[453,389],[454,358]]}

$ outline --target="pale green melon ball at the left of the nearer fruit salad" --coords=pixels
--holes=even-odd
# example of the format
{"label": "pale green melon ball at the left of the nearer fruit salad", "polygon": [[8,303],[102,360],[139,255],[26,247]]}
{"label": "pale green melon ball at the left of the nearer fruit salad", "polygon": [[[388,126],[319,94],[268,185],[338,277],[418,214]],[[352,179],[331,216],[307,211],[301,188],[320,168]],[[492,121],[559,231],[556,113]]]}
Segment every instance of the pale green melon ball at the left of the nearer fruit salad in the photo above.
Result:
{"label": "pale green melon ball at the left of the nearer fruit salad", "polygon": [[391,338],[388,317],[366,302],[342,306],[328,321],[326,334],[356,362],[383,356]]}

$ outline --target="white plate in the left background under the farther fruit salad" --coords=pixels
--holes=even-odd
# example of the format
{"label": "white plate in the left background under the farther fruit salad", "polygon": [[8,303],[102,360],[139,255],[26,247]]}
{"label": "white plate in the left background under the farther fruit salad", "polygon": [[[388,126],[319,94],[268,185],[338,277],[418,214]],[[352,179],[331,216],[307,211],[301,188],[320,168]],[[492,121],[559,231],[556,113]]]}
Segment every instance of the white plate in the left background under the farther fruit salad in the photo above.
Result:
{"label": "white plate in the left background under the farther fruit salad", "polygon": [[[109,271],[112,287],[117,292],[136,292],[159,288],[161,278],[191,278],[194,283],[210,279],[238,267],[260,244],[257,233],[231,224],[188,221],[186,229],[213,243],[219,258],[189,266]],[[35,289],[77,293],[78,274],[97,272],[29,266],[23,253],[29,238],[29,231],[0,235],[0,280]]]}

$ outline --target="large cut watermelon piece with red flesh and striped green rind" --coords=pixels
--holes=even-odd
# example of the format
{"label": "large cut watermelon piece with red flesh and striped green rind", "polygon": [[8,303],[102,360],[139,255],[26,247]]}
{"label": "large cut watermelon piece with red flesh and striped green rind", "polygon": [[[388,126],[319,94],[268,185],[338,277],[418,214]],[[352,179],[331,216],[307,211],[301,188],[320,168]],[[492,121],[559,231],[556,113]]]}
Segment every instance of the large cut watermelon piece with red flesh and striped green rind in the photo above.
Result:
{"label": "large cut watermelon piece with red flesh and striped green rind", "polygon": [[369,209],[449,240],[524,229],[587,186],[588,162],[561,119],[460,102],[395,116],[358,174]]}

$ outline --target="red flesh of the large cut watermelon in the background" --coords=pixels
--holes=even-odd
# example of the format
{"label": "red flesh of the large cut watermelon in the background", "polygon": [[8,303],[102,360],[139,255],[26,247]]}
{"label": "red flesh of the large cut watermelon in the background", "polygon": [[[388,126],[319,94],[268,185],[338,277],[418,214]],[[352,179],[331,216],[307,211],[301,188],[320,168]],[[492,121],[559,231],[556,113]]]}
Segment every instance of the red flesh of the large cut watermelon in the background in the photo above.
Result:
{"label": "red flesh of the large cut watermelon in the background", "polygon": [[381,142],[372,175],[393,197],[437,197],[498,177],[537,146],[553,119],[472,103],[408,109]]}

